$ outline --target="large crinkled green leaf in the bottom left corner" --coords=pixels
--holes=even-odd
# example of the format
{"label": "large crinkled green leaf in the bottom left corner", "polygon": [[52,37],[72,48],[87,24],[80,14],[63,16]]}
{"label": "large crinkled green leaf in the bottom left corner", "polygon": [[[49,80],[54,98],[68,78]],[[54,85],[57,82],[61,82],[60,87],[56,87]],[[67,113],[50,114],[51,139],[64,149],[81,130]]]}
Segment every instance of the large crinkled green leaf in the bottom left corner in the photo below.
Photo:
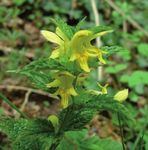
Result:
{"label": "large crinkled green leaf in the bottom left corner", "polygon": [[12,141],[14,150],[45,150],[52,142],[53,127],[45,119],[0,118],[0,129]]}

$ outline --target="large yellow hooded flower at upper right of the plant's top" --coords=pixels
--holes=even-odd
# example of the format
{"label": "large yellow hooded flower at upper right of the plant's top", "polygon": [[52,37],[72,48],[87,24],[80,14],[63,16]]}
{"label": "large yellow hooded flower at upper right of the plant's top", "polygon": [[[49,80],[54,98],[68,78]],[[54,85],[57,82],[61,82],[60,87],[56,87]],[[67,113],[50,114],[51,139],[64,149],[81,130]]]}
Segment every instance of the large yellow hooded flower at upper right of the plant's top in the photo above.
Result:
{"label": "large yellow hooded flower at upper right of the plant's top", "polygon": [[102,36],[109,31],[104,31],[100,33],[94,34],[92,31],[89,30],[81,30],[74,34],[70,46],[71,46],[71,57],[70,61],[78,61],[80,64],[81,69],[86,72],[90,71],[88,66],[88,59],[91,57],[98,57],[99,61],[105,64],[105,60],[103,59],[102,55],[105,54],[105,51],[98,49],[97,47],[91,44],[91,41],[98,36]]}

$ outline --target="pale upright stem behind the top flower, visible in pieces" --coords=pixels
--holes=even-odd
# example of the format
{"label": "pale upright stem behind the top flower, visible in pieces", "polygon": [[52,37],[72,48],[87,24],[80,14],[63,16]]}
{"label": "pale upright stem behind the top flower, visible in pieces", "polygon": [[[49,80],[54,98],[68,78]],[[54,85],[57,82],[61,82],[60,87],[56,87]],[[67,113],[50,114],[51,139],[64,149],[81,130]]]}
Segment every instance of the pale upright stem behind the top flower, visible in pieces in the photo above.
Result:
{"label": "pale upright stem behind the top flower, visible in pieces", "polygon": [[[97,26],[100,25],[100,17],[99,17],[99,11],[97,10],[97,7],[96,7],[96,1],[95,0],[91,0],[91,6],[92,6],[92,10],[93,10],[93,13],[94,13],[94,17],[95,17],[95,24]],[[100,37],[98,37],[96,39],[96,42],[97,42],[97,46],[100,47],[102,44],[101,44],[101,40],[100,40]],[[98,67],[98,80],[101,81],[103,78],[103,68],[102,66],[99,66]]]}

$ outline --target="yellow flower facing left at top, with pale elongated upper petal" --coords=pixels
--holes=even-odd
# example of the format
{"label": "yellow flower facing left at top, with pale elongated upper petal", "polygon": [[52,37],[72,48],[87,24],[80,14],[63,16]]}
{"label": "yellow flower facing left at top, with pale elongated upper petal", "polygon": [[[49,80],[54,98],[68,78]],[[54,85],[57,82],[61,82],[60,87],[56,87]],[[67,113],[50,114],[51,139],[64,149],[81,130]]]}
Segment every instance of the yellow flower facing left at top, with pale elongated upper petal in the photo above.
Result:
{"label": "yellow flower facing left at top, with pale elongated upper petal", "polygon": [[56,34],[46,30],[42,30],[41,34],[46,40],[50,41],[51,43],[57,44],[57,47],[51,53],[50,58],[55,59],[59,56],[62,57],[63,55],[65,55],[65,53],[67,53],[66,51],[68,49],[69,39],[59,28],[56,28]]}

